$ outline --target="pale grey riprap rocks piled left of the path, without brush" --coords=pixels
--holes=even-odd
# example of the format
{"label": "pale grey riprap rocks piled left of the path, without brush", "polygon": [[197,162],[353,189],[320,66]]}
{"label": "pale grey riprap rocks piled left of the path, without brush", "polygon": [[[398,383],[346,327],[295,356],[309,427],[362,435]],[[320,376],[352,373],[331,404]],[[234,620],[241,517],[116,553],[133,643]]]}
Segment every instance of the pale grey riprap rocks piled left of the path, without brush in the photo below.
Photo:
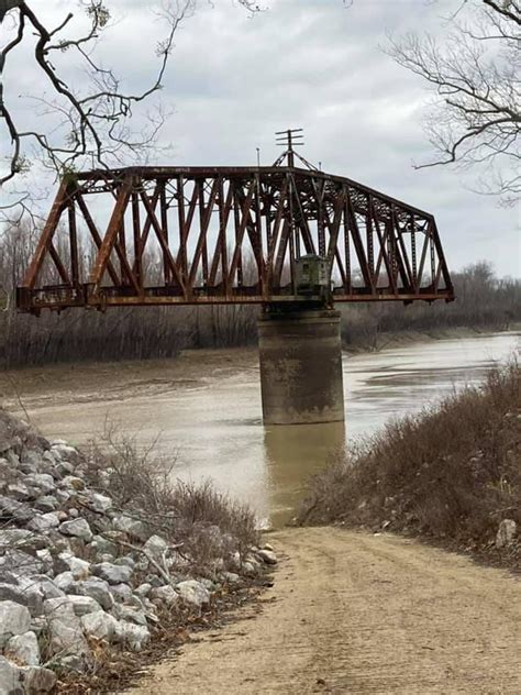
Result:
{"label": "pale grey riprap rocks piled left of the path, without brush", "polygon": [[222,554],[193,575],[181,544],[93,485],[87,457],[0,415],[0,694],[52,692],[57,671],[87,671],[100,644],[140,651],[164,611],[206,610],[276,562],[210,526],[199,533]]}

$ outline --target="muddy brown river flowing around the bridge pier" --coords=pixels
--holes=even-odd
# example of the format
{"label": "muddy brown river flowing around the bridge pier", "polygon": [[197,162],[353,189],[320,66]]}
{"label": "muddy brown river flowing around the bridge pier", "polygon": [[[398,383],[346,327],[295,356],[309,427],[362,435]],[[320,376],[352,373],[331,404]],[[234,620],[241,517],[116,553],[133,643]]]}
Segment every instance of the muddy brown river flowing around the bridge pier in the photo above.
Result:
{"label": "muddy brown river flowing around the bridge pier", "polygon": [[308,477],[346,442],[479,382],[520,341],[521,332],[507,332],[345,354],[345,427],[265,428],[256,350],[0,373],[0,402],[75,444],[97,438],[106,421],[140,446],[155,441],[179,478],[211,479],[251,504],[263,525],[278,526],[293,515]]}

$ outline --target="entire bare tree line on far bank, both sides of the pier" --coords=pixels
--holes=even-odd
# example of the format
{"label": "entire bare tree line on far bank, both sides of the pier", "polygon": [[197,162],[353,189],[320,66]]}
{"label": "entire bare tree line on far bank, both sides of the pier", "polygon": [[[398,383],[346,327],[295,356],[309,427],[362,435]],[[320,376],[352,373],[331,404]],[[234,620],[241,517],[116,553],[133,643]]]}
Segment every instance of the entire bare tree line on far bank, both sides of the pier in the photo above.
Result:
{"label": "entire bare tree line on far bank, both sides of the pier", "polygon": [[[0,236],[0,366],[57,362],[173,357],[185,349],[237,348],[257,340],[259,307],[130,307],[107,312],[69,309],[36,318],[16,312],[14,289],[25,273],[35,232],[16,224]],[[65,241],[65,240],[64,240]],[[59,241],[58,241],[59,245]],[[66,246],[59,251],[67,253]],[[82,257],[91,253],[84,249]],[[247,266],[245,266],[247,274]],[[146,276],[160,283],[162,262],[149,256]],[[49,280],[53,278],[49,277]],[[339,305],[346,346],[378,349],[383,334],[445,328],[505,330],[521,321],[521,282],[498,278],[487,262],[453,273],[457,300]]]}

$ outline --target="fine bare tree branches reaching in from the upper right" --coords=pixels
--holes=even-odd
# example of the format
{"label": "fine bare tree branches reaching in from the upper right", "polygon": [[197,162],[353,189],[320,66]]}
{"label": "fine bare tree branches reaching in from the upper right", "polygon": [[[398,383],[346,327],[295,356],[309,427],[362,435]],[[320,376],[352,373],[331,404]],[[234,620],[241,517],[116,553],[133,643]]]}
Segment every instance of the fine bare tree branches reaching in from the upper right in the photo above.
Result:
{"label": "fine bare tree branches reaching in from the upper right", "polygon": [[512,205],[521,192],[519,0],[463,0],[443,43],[409,33],[390,55],[420,75],[435,98],[426,132],[437,153],[417,168],[478,169],[478,190]]}

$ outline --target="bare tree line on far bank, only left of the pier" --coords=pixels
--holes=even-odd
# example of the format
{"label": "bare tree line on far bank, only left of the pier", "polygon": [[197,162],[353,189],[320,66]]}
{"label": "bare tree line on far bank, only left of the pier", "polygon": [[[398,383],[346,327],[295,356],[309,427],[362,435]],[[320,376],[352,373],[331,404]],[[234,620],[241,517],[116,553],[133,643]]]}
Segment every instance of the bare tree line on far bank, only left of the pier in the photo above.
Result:
{"label": "bare tree line on far bank, only left of the pier", "polygon": [[[21,315],[15,288],[21,284],[37,232],[25,224],[11,225],[0,235],[0,366],[84,360],[148,360],[173,357],[187,348],[226,348],[255,343],[256,311],[246,306],[131,307],[107,312],[73,309]],[[67,258],[65,238],[57,240]],[[85,244],[79,257],[89,264],[93,249]],[[162,261],[148,255],[146,284],[162,283]],[[247,273],[247,267],[245,267]],[[44,282],[56,283],[55,271],[44,269]]]}

